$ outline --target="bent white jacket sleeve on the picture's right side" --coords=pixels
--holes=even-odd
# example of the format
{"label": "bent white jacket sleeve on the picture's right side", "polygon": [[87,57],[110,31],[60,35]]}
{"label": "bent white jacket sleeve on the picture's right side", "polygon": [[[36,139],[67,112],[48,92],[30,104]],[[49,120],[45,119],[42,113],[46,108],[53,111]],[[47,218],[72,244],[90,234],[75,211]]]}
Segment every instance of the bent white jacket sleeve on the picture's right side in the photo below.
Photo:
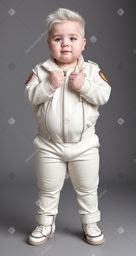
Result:
{"label": "bent white jacket sleeve on the picture's right side", "polygon": [[77,90],[81,96],[89,103],[94,105],[104,105],[110,97],[111,86],[101,77],[99,71],[101,69],[97,65],[93,79],[89,80],[85,77],[85,83]]}

